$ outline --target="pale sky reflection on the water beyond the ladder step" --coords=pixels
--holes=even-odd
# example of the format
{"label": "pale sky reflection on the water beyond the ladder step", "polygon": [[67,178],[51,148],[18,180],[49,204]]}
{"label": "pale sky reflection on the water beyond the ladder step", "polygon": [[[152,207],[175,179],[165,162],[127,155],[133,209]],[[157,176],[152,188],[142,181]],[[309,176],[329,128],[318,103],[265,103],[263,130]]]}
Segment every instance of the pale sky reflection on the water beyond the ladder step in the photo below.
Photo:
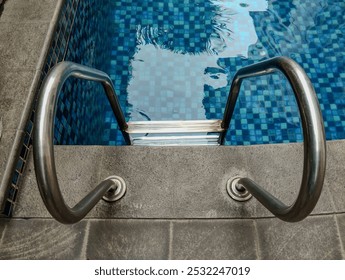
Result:
{"label": "pale sky reflection on the water beyond the ladder step", "polygon": [[[206,2],[213,12],[202,20],[210,22],[212,30],[198,33],[199,40],[192,38],[202,30],[193,26],[194,13],[180,14],[175,26],[136,26],[137,47],[127,87],[131,120],[205,119],[205,86],[219,89],[229,84],[231,69],[221,67],[219,58],[248,57],[258,39],[250,12],[266,11],[267,1]],[[179,42],[188,45],[185,48],[171,36],[176,28],[182,34]],[[205,47],[198,49],[198,42]],[[261,55],[266,55],[265,50]]]}

